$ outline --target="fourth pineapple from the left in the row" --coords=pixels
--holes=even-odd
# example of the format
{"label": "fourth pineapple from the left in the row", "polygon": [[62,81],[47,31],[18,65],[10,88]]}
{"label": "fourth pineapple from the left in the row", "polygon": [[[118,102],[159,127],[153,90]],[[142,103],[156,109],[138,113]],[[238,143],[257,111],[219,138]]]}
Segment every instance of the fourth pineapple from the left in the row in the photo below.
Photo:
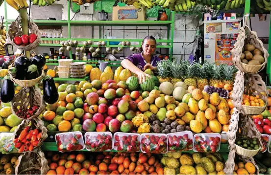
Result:
{"label": "fourth pineapple from the left in the row", "polygon": [[195,65],[197,66],[197,88],[203,90],[204,86],[209,85],[208,78],[210,77],[210,64],[208,62],[204,62],[203,65],[200,65],[199,63],[195,63]]}

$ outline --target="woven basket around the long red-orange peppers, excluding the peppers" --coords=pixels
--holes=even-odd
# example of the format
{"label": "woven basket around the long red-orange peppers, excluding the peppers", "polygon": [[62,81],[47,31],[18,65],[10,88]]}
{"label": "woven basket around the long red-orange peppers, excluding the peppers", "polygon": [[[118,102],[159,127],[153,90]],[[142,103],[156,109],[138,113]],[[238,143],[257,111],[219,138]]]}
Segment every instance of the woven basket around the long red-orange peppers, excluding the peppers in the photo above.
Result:
{"label": "woven basket around the long red-orange peppers, excluding the peppers", "polygon": [[33,148],[33,151],[35,151],[43,144],[44,140],[48,137],[47,129],[44,126],[44,123],[41,119],[34,118],[32,120],[24,120],[20,125],[18,125],[18,128],[14,131],[14,138],[17,138],[20,135],[20,133],[25,129],[25,127],[29,126],[30,122],[31,122],[30,130],[38,129],[39,132],[42,131],[39,143]]}

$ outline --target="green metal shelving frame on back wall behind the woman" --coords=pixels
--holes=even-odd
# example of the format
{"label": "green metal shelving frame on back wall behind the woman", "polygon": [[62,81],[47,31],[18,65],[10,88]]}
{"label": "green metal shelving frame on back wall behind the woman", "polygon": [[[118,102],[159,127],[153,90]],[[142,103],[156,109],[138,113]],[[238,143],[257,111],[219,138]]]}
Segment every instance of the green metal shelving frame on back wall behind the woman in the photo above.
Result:
{"label": "green metal shelving frame on back wall behind the woman", "polygon": [[[99,1],[99,11],[102,10],[101,1]],[[67,3],[68,9],[70,9],[70,3]],[[5,26],[6,30],[8,29],[8,23],[14,22],[14,20],[9,20],[7,18],[7,8],[6,1],[4,1],[5,8]],[[168,48],[167,55],[172,58],[173,55],[173,37],[174,37],[174,11],[168,11],[168,16],[171,18],[170,21],[71,21],[70,10],[68,10],[68,20],[33,20],[37,25],[68,25],[68,37],[61,39],[44,39],[42,40],[77,40],[77,41],[87,41],[92,40],[94,42],[98,41],[107,41],[107,47],[119,47],[120,45],[110,45],[109,41],[118,42],[118,41],[126,41],[126,39],[101,39],[101,26],[167,26],[167,40],[157,40],[157,42],[167,43],[167,45],[157,45],[157,48]],[[87,38],[71,38],[71,25],[92,25],[99,26],[99,39],[87,39]],[[171,39],[170,39],[171,38]],[[139,42],[139,45],[132,45],[138,47],[141,45],[142,39],[128,39],[130,42]],[[40,44],[39,46],[61,46],[61,44]],[[78,44],[78,46],[82,46],[82,44]],[[94,47],[98,47],[98,45],[93,45]],[[126,46],[125,46],[126,47]],[[127,46],[128,47],[128,46]],[[170,49],[170,50],[169,50]],[[72,51],[70,51],[70,58],[72,58]]]}

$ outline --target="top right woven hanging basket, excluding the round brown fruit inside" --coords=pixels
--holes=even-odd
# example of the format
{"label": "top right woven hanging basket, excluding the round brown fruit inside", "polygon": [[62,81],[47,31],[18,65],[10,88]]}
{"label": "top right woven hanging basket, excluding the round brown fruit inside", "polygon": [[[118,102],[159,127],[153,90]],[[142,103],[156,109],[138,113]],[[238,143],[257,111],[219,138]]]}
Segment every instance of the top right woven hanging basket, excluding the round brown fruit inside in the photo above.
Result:
{"label": "top right woven hanging basket, excluding the round brown fruit inside", "polygon": [[[267,64],[267,57],[269,57],[269,53],[265,49],[263,42],[257,37],[257,33],[251,31],[248,26],[248,18],[245,17],[244,26],[240,28],[237,41],[234,44],[234,48],[230,52],[232,54],[232,61],[239,70],[245,73],[257,73],[264,69],[265,65]],[[262,63],[260,66],[252,66],[242,63],[241,55],[245,44],[253,44],[255,48],[261,50],[264,54],[263,57],[265,59],[265,62]]]}

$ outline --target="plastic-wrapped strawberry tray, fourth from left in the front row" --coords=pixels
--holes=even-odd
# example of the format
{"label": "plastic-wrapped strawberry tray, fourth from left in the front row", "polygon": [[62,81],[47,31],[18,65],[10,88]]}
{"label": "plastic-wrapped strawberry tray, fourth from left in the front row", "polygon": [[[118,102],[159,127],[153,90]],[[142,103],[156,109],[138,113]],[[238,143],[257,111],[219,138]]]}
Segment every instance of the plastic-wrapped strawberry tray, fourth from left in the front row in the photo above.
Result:
{"label": "plastic-wrapped strawberry tray, fourth from left in the front row", "polygon": [[141,134],[142,153],[168,153],[168,137],[163,133]]}

